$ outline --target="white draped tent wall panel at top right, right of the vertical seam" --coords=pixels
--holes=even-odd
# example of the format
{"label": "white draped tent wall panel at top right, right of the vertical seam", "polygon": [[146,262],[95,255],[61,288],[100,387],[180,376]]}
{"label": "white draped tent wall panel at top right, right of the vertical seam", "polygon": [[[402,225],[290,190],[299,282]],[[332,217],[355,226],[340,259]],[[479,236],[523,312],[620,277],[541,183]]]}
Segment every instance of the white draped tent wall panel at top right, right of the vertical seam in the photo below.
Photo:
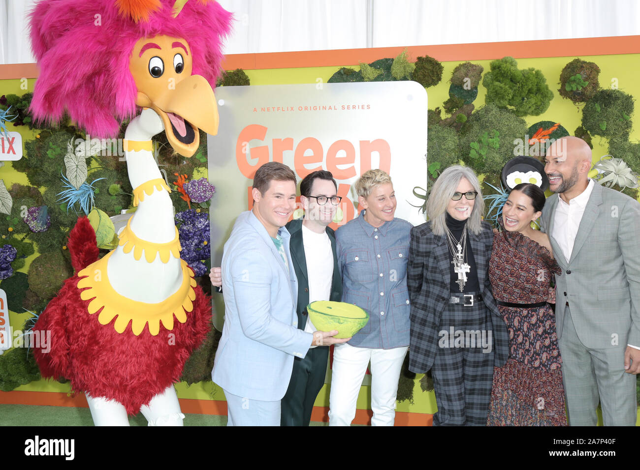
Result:
{"label": "white draped tent wall panel at top right, right of the vertical seam", "polygon": [[637,0],[374,0],[372,47],[640,35]]}

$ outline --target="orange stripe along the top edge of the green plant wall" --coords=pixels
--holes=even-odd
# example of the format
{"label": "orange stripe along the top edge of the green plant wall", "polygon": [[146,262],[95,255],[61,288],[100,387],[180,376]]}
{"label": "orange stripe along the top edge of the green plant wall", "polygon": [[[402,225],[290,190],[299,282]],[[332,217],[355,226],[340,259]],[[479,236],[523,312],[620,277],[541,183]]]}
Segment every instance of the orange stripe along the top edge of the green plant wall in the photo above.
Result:
{"label": "orange stripe along the top edge of the green plant wall", "polygon": [[[266,52],[263,54],[228,54],[225,70],[259,70],[262,68],[340,67],[396,57],[407,49],[408,56],[429,55],[439,61],[491,60],[511,56],[516,59],[608,56],[639,54],[640,36],[608,38],[573,38],[538,41],[481,42],[472,44],[419,45],[409,47],[375,47],[371,49],[335,49],[332,51]],[[0,79],[36,78],[38,67],[33,64],[0,65]]]}

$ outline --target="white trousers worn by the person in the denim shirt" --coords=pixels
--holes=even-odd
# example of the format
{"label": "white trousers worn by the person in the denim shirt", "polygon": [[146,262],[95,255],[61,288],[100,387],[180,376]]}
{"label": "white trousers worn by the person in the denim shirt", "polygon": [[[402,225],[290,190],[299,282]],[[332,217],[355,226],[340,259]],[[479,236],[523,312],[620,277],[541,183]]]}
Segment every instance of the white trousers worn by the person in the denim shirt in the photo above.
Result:
{"label": "white trousers worn by the person in the denim shirt", "polygon": [[350,426],[356,416],[356,400],[371,361],[372,426],[393,426],[396,419],[398,379],[408,347],[356,348],[335,345],[329,395],[329,425]]}

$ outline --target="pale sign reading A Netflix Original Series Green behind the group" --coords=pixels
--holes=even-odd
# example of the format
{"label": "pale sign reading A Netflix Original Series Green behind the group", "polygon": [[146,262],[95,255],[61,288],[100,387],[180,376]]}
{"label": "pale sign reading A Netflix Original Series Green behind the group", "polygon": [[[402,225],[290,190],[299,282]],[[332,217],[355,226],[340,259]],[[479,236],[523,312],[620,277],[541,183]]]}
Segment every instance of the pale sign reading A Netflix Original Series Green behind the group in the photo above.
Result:
{"label": "pale sign reading A Netflix Original Series Green behind the group", "polygon": [[[220,127],[209,136],[209,180],[224,203],[211,205],[211,240],[228,236],[240,212],[252,208],[257,168],[289,166],[298,182],[330,171],[342,196],[336,229],[358,216],[353,184],[380,168],[396,191],[396,217],[424,223],[413,194],[427,180],[427,93],[417,82],[313,83],[216,89]],[[298,196],[300,198],[300,196]],[[220,231],[216,234],[220,224]]]}

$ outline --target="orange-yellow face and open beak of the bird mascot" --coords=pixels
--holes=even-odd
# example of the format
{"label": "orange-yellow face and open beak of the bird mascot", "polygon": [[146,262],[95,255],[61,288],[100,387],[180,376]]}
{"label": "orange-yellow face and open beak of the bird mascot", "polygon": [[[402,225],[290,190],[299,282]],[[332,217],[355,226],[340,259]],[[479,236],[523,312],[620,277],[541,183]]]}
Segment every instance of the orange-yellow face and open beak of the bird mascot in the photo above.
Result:
{"label": "orange-yellow face and open beak of the bird mascot", "polygon": [[156,111],[173,149],[191,157],[200,145],[202,129],[218,133],[218,106],[211,85],[191,75],[193,58],[182,38],[142,38],[133,47],[129,70],[138,96],[136,105]]}

